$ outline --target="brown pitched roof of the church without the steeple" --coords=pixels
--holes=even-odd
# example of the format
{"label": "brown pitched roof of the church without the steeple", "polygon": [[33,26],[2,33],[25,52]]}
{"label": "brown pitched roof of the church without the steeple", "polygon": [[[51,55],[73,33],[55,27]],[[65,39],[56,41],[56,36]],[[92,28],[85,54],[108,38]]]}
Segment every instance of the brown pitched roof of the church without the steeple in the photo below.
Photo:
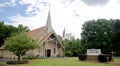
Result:
{"label": "brown pitched roof of the church without the steeple", "polygon": [[55,31],[53,30],[52,32],[47,33],[46,30],[47,26],[43,26],[28,32],[28,35],[32,37],[33,40],[38,40],[40,44],[43,44],[52,34],[54,34],[61,47],[64,48]]}

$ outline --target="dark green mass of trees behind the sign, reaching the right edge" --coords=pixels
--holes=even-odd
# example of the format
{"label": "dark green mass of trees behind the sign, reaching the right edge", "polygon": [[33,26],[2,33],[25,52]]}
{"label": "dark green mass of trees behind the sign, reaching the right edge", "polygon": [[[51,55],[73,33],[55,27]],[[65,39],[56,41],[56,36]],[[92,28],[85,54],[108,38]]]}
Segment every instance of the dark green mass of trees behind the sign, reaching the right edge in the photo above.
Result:
{"label": "dark green mass of trees behind the sign, reaching the right edge", "polygon": [[[82,25],[81,43],[86,49],[101,49],[103,53],[120,48],[120,20],[90,20]],[[120,54],[120,53],[119,53]]]}

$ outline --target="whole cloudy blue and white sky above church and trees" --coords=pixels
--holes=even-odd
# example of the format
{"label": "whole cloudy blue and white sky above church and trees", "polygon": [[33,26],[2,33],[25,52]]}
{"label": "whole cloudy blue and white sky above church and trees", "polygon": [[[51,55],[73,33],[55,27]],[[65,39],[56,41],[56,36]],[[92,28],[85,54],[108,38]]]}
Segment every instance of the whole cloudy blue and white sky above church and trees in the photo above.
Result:
{"label": "whole cloudy blue and white sky above church and trees", "polygon": [[0,21],[33,30],[46,25],[49,10],[58,35],[65,28],[80,38],[85,21],[120,19],[120,0],[0,0]]}

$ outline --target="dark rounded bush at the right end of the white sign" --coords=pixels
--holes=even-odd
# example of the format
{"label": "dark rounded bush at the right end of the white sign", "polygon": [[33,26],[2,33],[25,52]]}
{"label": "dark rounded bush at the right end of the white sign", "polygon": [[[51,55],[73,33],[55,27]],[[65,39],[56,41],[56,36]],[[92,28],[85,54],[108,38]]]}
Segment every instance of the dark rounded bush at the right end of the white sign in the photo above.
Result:
{"label": "dark rounded bush at the right end of the white sign", "polygon": [[112,55],[110,54],[101,54],[98,56],[100,62],[110,62],[112,60]]}

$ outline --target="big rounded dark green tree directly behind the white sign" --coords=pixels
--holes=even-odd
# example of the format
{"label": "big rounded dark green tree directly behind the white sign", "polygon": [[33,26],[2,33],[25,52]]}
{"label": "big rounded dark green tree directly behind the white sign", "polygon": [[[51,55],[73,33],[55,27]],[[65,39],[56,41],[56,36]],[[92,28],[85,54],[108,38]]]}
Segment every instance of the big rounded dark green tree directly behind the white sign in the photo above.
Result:
{"label": "big rounded dark green tree directly behind the white sign", "polygon": [[103,53],[110,52],[112,26],[109,20],[98,19],[83,24],[81,43],[86,49],[101,49]]}

